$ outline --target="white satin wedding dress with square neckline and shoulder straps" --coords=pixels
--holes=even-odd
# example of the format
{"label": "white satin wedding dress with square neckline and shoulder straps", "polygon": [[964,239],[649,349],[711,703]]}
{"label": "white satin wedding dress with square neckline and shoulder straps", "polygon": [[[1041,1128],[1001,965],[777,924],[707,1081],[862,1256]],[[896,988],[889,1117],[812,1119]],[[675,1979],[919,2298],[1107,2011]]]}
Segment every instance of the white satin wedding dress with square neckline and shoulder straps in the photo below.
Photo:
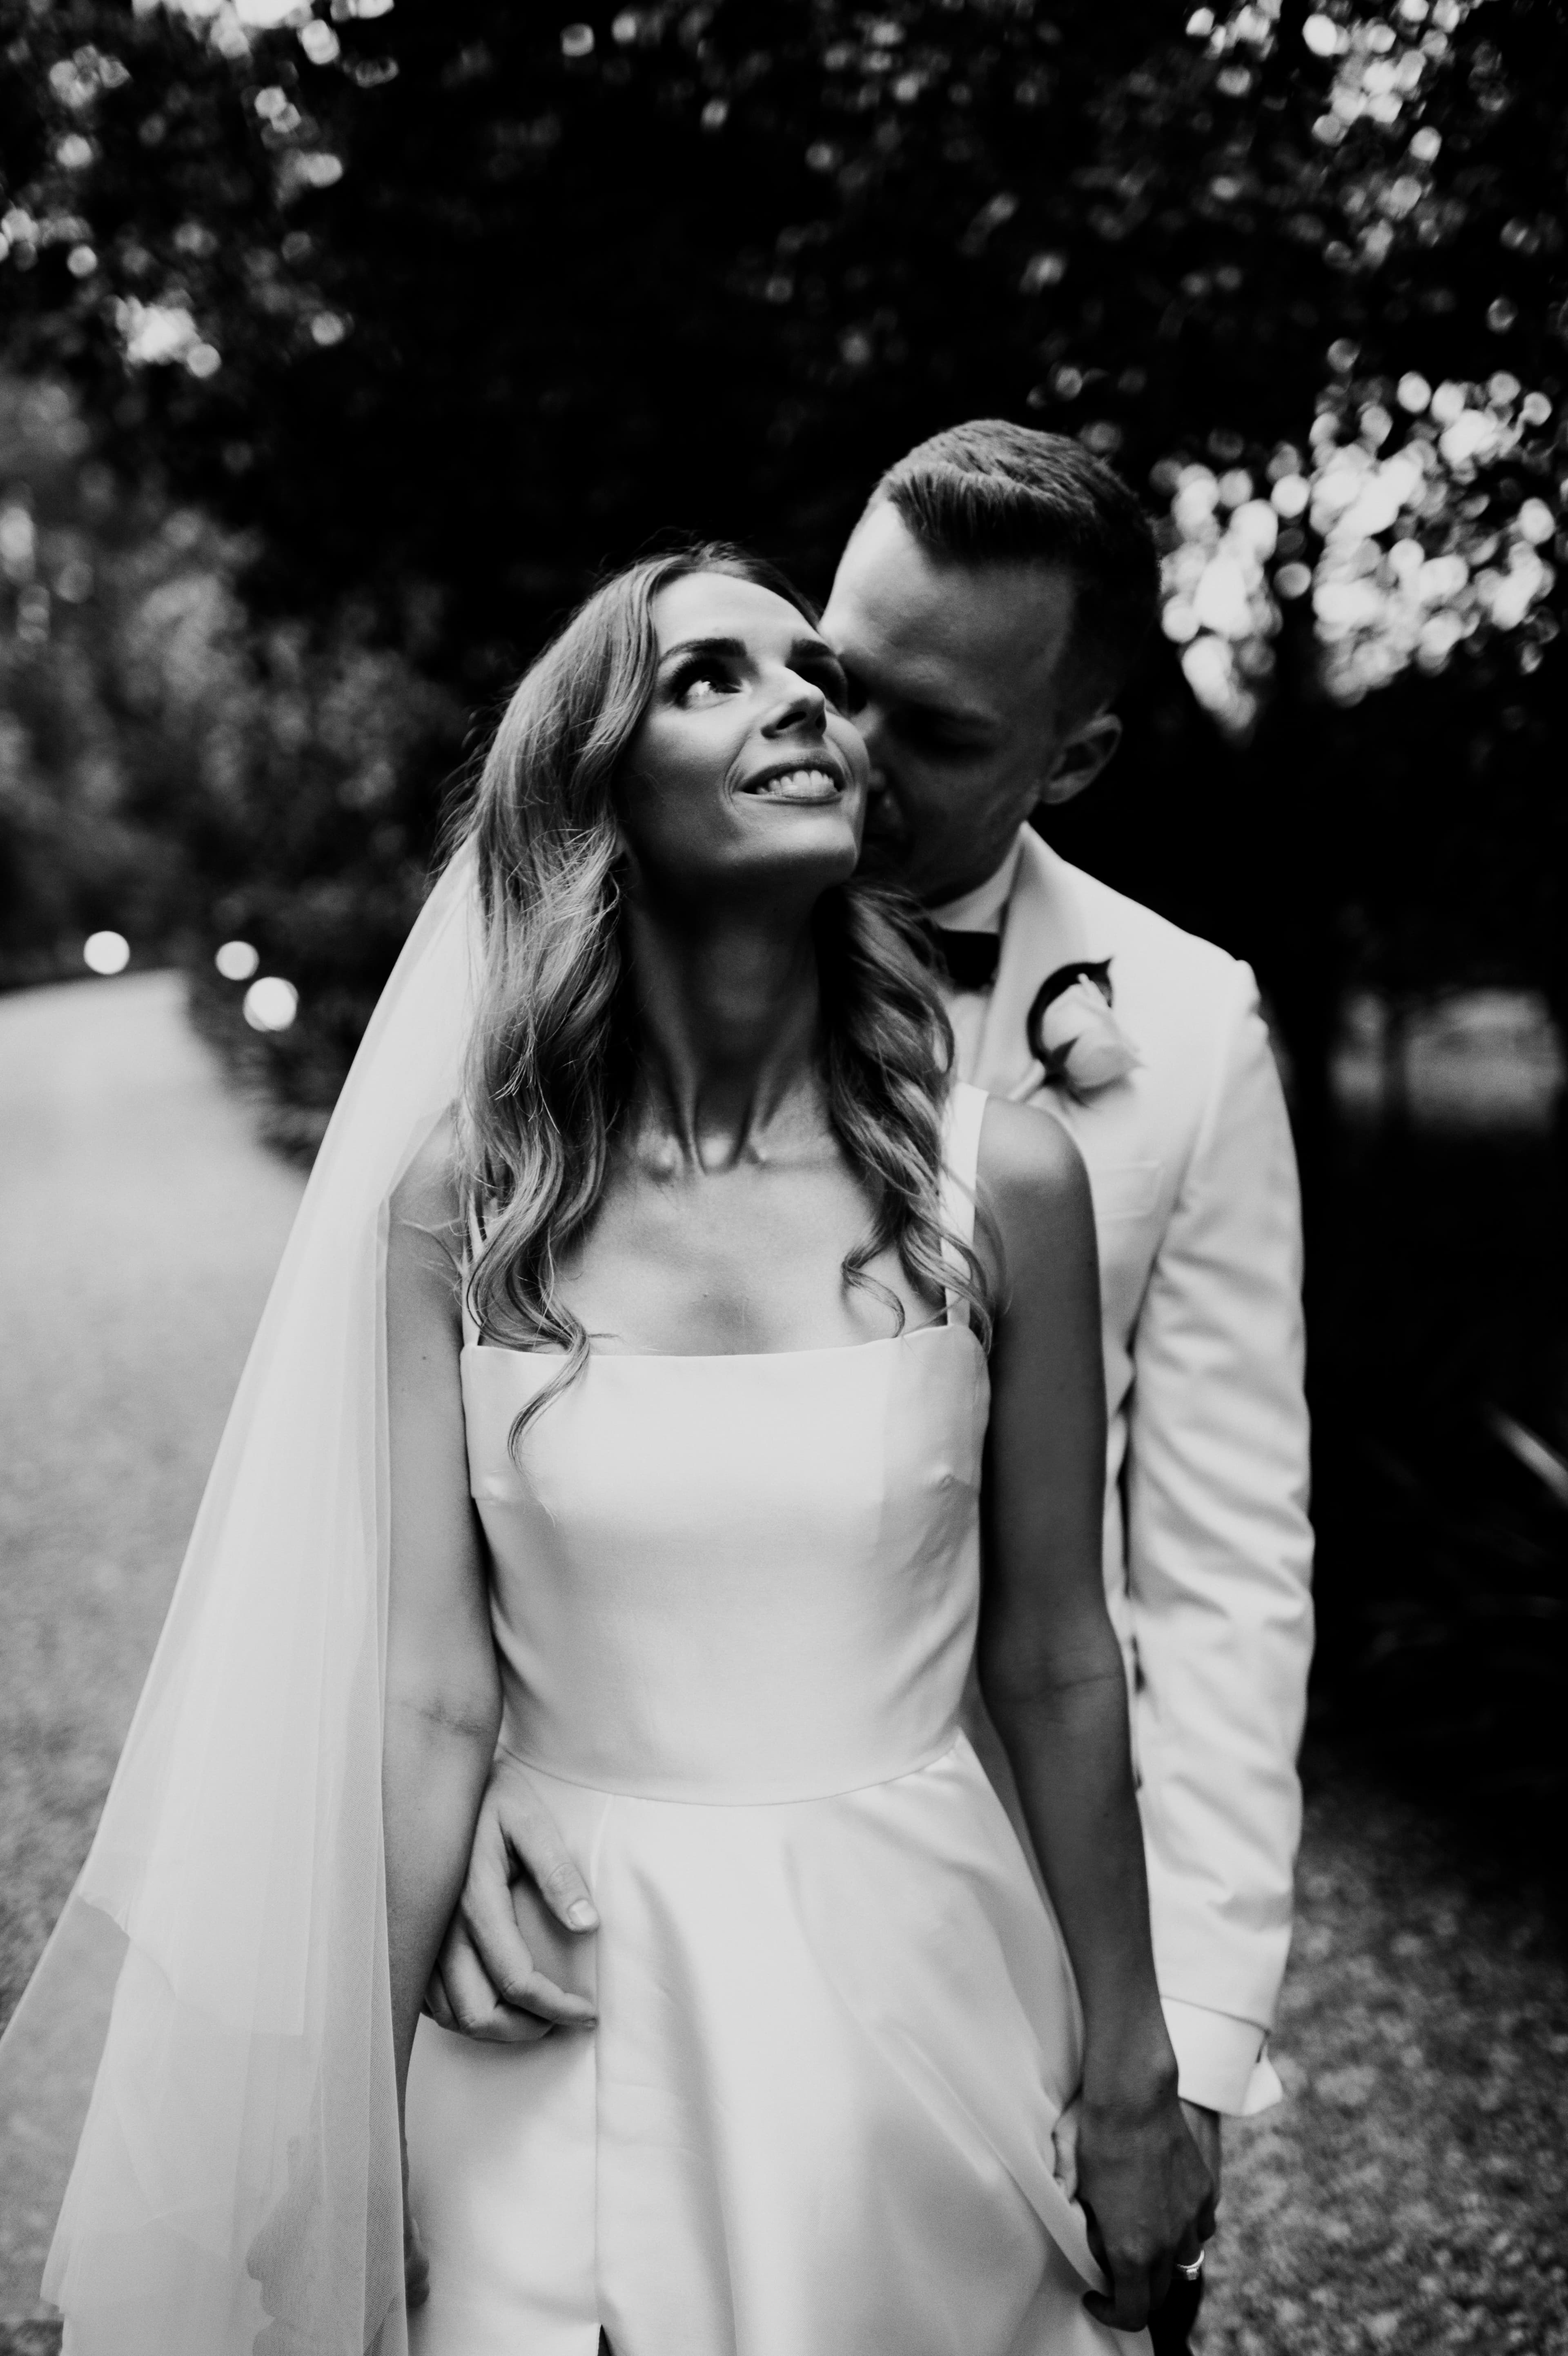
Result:
{"label": "white satin wedding dress with square neckline and shoulder straps", "polygon": [[[948,1218],[983,1096],[957,1088]],[[462,1352],[507,1748],[601,1915],[599,2021],[420,2024],[413,2356],[1134,2356],[1054,2130],[1080,2014],[957,1727],[986,1357]]]}

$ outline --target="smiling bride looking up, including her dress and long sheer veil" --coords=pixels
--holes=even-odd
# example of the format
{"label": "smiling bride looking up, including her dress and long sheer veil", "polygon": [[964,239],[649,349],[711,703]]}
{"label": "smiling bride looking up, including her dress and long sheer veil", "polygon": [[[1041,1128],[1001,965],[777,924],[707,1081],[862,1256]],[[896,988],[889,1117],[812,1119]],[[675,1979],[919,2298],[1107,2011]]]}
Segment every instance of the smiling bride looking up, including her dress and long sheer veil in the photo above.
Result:
{"label": "smiling bride looking up, including her dress and long sheer veil", "polygon": [[[950,1086],[865,782],[733,551],[516,690],[78,1892],[73,2356],[1087,2356],[1195,2255],[1087,1183]],[[420,2019],[498,1739],[601,1925],[523,2047]]]}

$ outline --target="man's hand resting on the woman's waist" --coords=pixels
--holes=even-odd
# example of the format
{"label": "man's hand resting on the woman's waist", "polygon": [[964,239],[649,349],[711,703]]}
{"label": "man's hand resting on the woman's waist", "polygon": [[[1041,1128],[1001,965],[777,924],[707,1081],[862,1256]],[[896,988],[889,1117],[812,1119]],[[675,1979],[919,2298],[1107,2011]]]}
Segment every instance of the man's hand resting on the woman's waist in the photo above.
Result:
{"label": "man's hand resting on the woman's waist", "polygon": [[580,1977],[578,1941],[597,1927],[554,1816],[526,1769],[498,1753],[424,2010],[443,2029],[490,2045],[585,2029],[594,2005],[564,1981]]}

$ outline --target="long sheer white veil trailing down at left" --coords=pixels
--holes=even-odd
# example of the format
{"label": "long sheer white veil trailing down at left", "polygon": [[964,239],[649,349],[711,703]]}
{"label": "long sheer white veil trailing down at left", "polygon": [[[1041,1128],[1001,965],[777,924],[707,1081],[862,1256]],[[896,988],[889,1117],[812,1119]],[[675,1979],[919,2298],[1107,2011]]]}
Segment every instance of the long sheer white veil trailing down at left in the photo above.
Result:
{"label": "long sheer white veil trailing down at left", "polygon": [[24,2241],[75,2149],[42,2276],[71,2356],[406,2356],[382,1286],[387,1197],[460,1086],[479,933],[465,851],[344,1084],[97,1840],[0,2043]]}

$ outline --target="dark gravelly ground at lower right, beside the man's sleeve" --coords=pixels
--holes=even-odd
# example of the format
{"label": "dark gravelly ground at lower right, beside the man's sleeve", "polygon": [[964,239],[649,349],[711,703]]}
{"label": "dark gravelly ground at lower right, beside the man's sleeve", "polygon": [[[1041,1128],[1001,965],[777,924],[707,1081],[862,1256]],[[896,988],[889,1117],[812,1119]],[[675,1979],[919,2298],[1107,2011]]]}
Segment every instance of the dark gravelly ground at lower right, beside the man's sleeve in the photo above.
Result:
{"label": "dark gravelly ground at lower right, beside the man's sleeve", "polygon": [[1273,2040],[1228,2132],[1203,2356],[1568,2351],[1568,1963],[1549,1890],[1311,1762]]}

